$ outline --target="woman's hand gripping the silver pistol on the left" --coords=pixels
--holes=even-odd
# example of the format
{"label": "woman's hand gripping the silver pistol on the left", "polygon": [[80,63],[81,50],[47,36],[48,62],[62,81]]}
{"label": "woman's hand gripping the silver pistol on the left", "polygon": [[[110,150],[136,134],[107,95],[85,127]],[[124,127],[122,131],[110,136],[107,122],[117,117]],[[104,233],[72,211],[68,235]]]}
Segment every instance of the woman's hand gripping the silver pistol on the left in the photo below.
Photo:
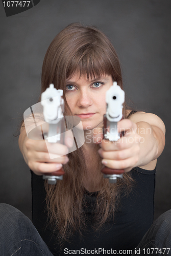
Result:
{"label": "woman's hand gripping the silver pistol on the left", "polygon": [[[62,164],[66,164],[69,160],[68,147],[71,147],[73,142],[72,133],[67,133],[65,136],[65,145],[48,143],[45,140],[32,140],[27,137],[25,127],[21,127],[18,140],[23,158],[36,175],[53,173],[61,169]],[[49,153],[51,153],[51,158]]]}

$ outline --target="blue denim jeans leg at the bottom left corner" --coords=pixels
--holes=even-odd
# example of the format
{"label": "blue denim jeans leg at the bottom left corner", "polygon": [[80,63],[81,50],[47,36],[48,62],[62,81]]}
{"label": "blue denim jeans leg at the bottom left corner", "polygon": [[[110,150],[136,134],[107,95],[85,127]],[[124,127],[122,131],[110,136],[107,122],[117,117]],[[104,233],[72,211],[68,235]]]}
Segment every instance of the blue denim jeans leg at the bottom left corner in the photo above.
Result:
{"label": "blue denim jeans leg at the bottom left corner", "polygon": [[0,204],[0,255],[53,256],[30,219],[8,204]]}

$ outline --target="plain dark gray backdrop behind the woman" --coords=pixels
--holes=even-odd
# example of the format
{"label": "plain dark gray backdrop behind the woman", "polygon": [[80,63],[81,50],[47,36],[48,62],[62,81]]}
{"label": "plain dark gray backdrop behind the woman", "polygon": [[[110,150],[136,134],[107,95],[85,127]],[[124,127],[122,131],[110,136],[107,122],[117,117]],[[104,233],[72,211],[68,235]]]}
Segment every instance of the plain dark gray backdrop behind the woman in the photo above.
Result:
{"label": "plain dark gray backdrop behind the woman", "polygon": [[155,113],[166,125],[158,159],[155,217],[171,208],[170,31],[168,0],[41,0],[34,8],[1,18],[0,202],[31,218],[31,175],[18,148],[20,116],[37,102],[48,45],[72,22],[95,25],[111,39],[121,61],[125,91],[137,109]]}

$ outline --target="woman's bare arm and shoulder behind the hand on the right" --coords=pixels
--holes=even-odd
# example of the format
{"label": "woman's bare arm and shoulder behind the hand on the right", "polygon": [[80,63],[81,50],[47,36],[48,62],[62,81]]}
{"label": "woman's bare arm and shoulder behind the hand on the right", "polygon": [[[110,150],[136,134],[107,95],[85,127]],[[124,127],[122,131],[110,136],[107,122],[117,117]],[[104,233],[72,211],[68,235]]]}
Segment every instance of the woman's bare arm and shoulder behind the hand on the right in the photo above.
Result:
{"label": "woman's bare arm and shoulder behind the hand on the right", "polygon": [[158,116],[151,113],[137,112],[130,120],[136,123],[137,134],[142,138],[137,165],[144,169],[154,169],[164,149],[165,125]]}

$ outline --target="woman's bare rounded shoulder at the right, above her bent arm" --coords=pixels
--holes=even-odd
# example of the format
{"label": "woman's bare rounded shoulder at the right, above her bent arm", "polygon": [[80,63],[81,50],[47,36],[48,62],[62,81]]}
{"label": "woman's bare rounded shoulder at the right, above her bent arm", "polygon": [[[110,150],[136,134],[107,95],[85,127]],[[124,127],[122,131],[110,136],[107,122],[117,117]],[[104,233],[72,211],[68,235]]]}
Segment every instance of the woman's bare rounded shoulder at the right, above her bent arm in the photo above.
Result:
{"label": "woman's bare rounded shoulder at the right, above her bent arm", "polygon": [[[131,113],[130,110],[127,110],[127,114],[129,115]],[[127,116],[128,116],[127,115]],[[152,113],[145,113],[145,112],[136,112],[129,116],[129,119],[134,122],[147,122],[152,126],[158,127],[163,134],[165,135],[165,125],[164,122],[161,120],[160,117],[158,117],[155,114]]]}

